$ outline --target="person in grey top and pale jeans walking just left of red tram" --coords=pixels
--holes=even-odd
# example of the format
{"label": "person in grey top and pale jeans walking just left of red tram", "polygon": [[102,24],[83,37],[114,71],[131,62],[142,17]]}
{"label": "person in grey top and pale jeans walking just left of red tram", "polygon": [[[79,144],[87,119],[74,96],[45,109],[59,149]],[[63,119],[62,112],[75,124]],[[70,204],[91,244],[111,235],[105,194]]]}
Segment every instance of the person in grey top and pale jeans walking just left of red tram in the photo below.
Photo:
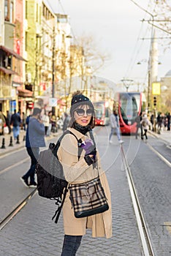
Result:
{"label": "person in grey top and pale jeans walking just left of red tram", "polygon": [[109,142],[113,143],[111,138],[115,132],[119,143],[123,143],[123,140],[121,140],[119,119],[118,119],[118,113],[116,110],[113,110],[113,113],[110,115],[110,127],[111,127],[111,132],[110,132]]}

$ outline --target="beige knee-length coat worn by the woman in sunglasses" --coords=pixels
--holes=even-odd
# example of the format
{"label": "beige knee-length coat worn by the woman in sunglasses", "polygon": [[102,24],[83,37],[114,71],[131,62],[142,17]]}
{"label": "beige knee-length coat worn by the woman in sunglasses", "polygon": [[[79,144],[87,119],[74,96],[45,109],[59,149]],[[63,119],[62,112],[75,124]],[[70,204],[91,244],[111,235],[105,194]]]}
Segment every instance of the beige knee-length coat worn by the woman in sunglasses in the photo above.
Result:
{"label": "beige knee-length coat worn by the woman in sunglasses", "polygon": [[[77,137],[77,139],[85,140],[86,136],[78,132],[76,129],[69,128]],[[61,141],[61,146],[58,148],[58,159],[64,167],[64,175],[69,183],[81,183],[91,180],[97,176],[97,169],[90,165],[88,166],[85,159],[85,151],[82,151],[80,160],[78,161],[77,140],[74,135],[67,134]],[[66,200],[63,206],[64,233],[70,236],[83,236],[86,234],[86,228],[92,230],[93,237],[112,236],[112,213],[111,213],[111,198],[110,188],[107,182],[105,173],[102,170],[98,157],[99,174],[104,188],[109,210],[102,214],[96,214],[91,217],[77,219],[74,216],[71,201],[69,200],[69,192],[66,195]]]}

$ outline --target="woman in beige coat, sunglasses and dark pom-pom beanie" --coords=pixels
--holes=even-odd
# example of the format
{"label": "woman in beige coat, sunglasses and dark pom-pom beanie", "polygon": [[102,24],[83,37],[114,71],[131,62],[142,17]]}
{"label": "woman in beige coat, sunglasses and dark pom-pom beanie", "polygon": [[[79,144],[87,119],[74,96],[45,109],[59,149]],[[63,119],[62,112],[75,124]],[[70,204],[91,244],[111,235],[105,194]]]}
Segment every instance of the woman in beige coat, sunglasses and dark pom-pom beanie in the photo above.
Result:
{"label": "woman in beige coat, sunglasses and dark pom-pom beanie", "polygon": [[[107,197],[109,210],[102,214],[96,214],[91,217],[75,218],[69,192],[63,206],[64,219],[64,244],[61,256],[74,256],[80,246],[81,238],[86,234],[86,228],[92,230],[93,237],[112,236],[112,215],[110,188],[107,178],[102,171],[99,162],[99,154],[96,151],[92,128],[94,128],[94,106],[88,97],[80,92],[73,94],[71,109],[71,119],[69,121],[69,130],[75,134],[66,134],[61,140],[61,146],[58,148],[58,159],[64,167],[64,175],[69,184],[82,183],[89,181],[100,174],[100,180],[104,193]],[[83,148],[78,160],[77,140],[91,140],[94,145],[92,148]],[[90,139],[91,138],[91,139]],[[91,144],[91,145],[92,145]]]}

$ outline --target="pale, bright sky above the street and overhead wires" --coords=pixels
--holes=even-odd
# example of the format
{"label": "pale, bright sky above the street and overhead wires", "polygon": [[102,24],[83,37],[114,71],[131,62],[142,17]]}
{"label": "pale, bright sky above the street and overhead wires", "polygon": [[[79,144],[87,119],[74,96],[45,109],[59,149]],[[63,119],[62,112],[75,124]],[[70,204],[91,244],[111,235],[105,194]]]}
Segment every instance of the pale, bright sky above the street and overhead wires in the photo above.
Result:
{"label": "pale, bright sky above the street and overhead wires", "polygon": [[[151,0],[134,0],[151,12]],[[72,32],[76,38],[83,34],[93,36],[96,47],[110,56],[109,61],[96,75],[113,83],[134,80],[142,86],[147,83],[148,57],[151,43],[151,25],[142,22],[150,15],[131,0],[47,0],[54,12],[70,17]],[[149,5],[150,3],[150,5]],[[156,37],[169,34],[156,31]],[[158,80],[171,69],[171,50],[159,45]],[[137,64],[140,62],[141,64]],[[126,82],[129,83],[129,82]]]}

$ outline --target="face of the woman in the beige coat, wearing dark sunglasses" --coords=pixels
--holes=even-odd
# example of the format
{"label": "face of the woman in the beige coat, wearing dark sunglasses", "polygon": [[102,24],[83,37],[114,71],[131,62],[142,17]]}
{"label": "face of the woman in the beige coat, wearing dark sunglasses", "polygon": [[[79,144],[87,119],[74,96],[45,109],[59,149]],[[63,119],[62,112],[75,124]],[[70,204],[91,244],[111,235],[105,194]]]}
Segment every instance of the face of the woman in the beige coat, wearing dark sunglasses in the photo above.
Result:
{"label": "face of the woman in the beige coat, wearing dark sunglasses", "polygon": [[91,110],[88,105],[81,105],[74,113],[76,123],[86,127],[90,123],[93,113],[94,110]]}

